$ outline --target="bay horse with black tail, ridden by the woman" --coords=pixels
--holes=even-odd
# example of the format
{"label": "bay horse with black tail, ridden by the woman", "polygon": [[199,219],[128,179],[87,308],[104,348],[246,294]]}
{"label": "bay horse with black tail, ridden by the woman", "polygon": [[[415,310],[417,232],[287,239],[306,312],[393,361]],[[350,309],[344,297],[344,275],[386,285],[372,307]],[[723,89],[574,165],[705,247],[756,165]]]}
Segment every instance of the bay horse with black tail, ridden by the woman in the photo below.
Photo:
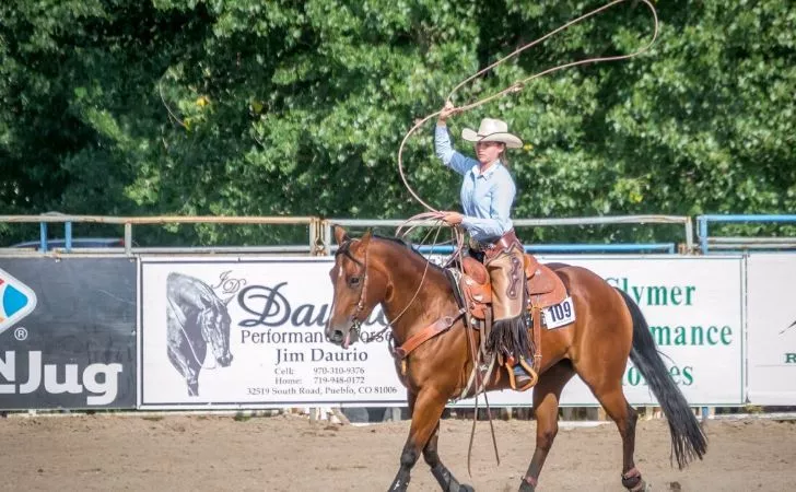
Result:
{"label": "bay horse with black tail, ridden by the woman", "polygon": [[[359,339],[360,326],[378,304],[386,318],[395,320],[390,325],[396,347],[459,311],[443,269],[400,239],[373,236],[370,232],[361,238],[351,238],[339,226],[335,227],[335,238],[339,247],[329,272],[333,307],[326,326],[330,342],[348,349]],[[548,267],[564,282],[577,317],[566,327],[542,330],[539,380],[532,391],[536,449],[519,490],[536,490],[558,433],[561,390],[575,374],[619,427],[622,485],[631,491],[646,489],[633,461],[637,414],[622,391],[629,358],[666,414],[672,455],[679,468],[694,458],[702,459],[707,449],[706,437],[682,393],[669,377],[637,304],[590,270],[562,263]],[[459,483],[437,455],[442,412],[450,398],[461,394],[472,370],[466,330],[471,328],[465,327],[459,317],[450,329],[411,352],[406,371],[396,359],[396,370],[407,387],[411,425],[390,491],[407,490],[410,471],[421,453],[443,491],[473,490]],[[475,337],[478,340],[477,331]],[[488,390],[508,386],[507,377],[495,379],[485,382]]]}

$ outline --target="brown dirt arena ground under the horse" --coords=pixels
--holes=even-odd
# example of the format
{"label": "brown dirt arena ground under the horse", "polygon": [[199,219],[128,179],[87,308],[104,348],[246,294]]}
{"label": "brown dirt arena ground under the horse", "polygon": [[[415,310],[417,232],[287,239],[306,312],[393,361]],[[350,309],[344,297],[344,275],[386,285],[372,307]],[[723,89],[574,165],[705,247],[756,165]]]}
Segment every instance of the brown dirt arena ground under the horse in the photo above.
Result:
{"label": "brown dirt arena ground under the horse", "polygon": [[[534,449],[534,422],[479,423],[467,477],[470,422],[446,420],[440,453],[479,491],[517,490]],[[0,420],[0,490],[8,491],[379,491],[397,471],[409,422],[370,426],[297,415],[11,417]],[[796,422],[710,422],[704,461],[669,466],[664,421],[639,424],[636,464],[656,491],[796,490]],[[613,425],[562,429],[541,491],[619,491],[621,449]],[[422,461],[410,490],[435,491]]]}

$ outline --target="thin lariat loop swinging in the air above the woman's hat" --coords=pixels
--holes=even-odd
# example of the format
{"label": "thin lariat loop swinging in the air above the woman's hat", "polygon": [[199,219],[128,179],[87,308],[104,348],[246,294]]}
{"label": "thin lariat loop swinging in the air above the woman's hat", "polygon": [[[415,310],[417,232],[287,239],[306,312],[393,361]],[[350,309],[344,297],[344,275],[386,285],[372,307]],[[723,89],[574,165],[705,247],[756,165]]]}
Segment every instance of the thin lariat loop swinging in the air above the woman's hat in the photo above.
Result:
{"label": "thin lariat loop swinging in the air above the woman's hat", "polygon": [[[489,70],[492,70],[493,68],[495,68],[496,66],[503,63],[507,59],[513,58],[513,57],[516,57],[517,55],[519,55],[520,52],[525,51],[526,49],[528,49],[528,48],[530,48],[532,46],[538,45],[539,43],[543,42],[545,39],[553,36],[554,34],[560,33],[561,31],[566,30],[567,27],[570,27],[570,26],[572,26],[574,24],[577,24],[577,23],[580,23],[580,22],[582,22],[582,21],[584,21],[584,20],[586,20],[588,17],[592,17],[594,15],[597,15],[598,13],[602,12],[604,10],[610,9],[611,7],[614,7],[614,5],[619,4],[619,3],[627,2],[627,1],[630,1],[630,0],[614,0],[614,1],[610,2],[610,3],[608,3],[608,4],[605,4],[605,5],[602,5],[602,7],[598,8],[598,9],[593,10],[592,12],[588,12],[588,13],[586,13],[584,15],[581,15],[580,17],[577,17],[577,19],[575,19],[573,21],[567,22],[566,24],[562,25],[561,27],[559,27],[559,28],[557,28],[557,30],[554,30],[554,31],[546,34],[545,36],[542,36],[542,37],[540,37],[538,39],[535,39],[535,40],[526,44],[525,46],[516,49],[511,55],[507,55],[507,56],[501,58],[500,60],[495,61],[494,63],[490,65],[489,67],[487,67],[487,68],[478,71],[477,73],[472,74],[468,79],[464,80],[461,83],[459,83],[458,85],[456,85],[453,91],[450,91],[450,94],[448,94],[446,101],[453,101],[454,94],[461,86],[464,86],[465,84],[469,83],[475,78],[483,74],[484,72],[487,72]],[[636,1],[636,0],[633,0],[633,1]],[[481,98],[479,101],[476,101],[475,103],[470,103],[470,104],[466,104],[464,106],[455,107],[453,114],[458,114],[458,113],[464,113],[464,112],[471,110],[471,109],[473,109],[473,108],[476,108],[478,106],[481,106],[482,104],[485,104],[485,103],[488,103],[488,102],[490,102],[492,99],[495,99],[497,97],[501,97],[501,96],[506,95],[506,94],[510,94],[510,93],[518,93],[518,92],[523,91],[523,89],[525,89],[525,86],[526,86],[526,84],[528,82],[530,82],[530,81],[532,81],[535,79],[538,79],[538,78],[540,78],[542,75],[547,75],[549,73],[553,73],[553,72],[557,72],[559,70],[563,70],[565,68],[576,67],[576,66],[580,66],[580,65],[596,63],[596,62],[600,62],[600,61],[625,60],[625,59],[636,57],[636,56],[639,56],[639,55],[647,51],[653,46],[653,44],[655,43],[655,39],[657,39],[657,37],[658,37],[658,15],[655,12],[655,8],[653,7],[652,3],[649,3],[648,0],[640,0],[640,1],[642,1],[646,7],[649,8],[649,11],[653,14],[653,19],[655,20],[655,31],[653,33],[653,38],[649,40],[649,43],[647,45],[645,45],[640,50],[634,51],[634,52],[631,52],[630,55],[617,55],[617,56],[612,56],[612,57],[594,57],[594,58],[587,58],[585,60],[577,60],[577,61],[572,61],[572,62],[569,62],[569,63],[559,65],[559,66],[553,67],[551,69],[545,70],[545,71],[539,72],[539,73],[535,73],[535,74],[532,74],[530,77],[527,77],[527,78],[525,78],[523,80],[519,80],[519,81],[517,81],[517,82],[508,85],[507,87],[503,89],[502,91],[500,91],[500,92],[497,92],[495,94],[492,94],[490,96],[483,97],[483,98]],[[415,125],[403,137],[403,140],[401,141],[400,148],[398,149],[398,172],[400,173],[401,180],[403,181],[403,186],[407,187],[407,189],[409,190],[409,194],[415,200],[418,200],[418,202],[420,202],[420,204],[422,204],[423,207],[425,207],[425,209],[428,209],[431,212],[438,212],[438,210],[436,210],[434,207],[432,207],[429,203],[426,203],[425,201],[423,201],[423,199],[420,198],[420,196],[418,196],[418,194],[414,191],[414,189],[409,185],[409,181],[407,180],[406,174],[403,172],[403,147],[406,145],[407,141],[409,140],[409,137],[411,137],[411,134],[414,133],[418,130],[418,128],[420,128],[421,126],[423,126],[431,118],[440,115],[440,113],[442,113],[442,110],[436,112],[436,113],[432,113],[431,115],[426,116],[425,118],[417,121]]]}

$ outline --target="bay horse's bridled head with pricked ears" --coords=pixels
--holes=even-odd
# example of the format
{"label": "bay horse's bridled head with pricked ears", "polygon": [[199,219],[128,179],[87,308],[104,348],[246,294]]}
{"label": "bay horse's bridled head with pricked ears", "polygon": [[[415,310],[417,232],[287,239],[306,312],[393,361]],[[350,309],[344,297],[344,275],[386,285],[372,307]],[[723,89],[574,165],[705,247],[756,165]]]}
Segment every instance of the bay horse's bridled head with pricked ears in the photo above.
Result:
{"label": "bay horse's bridled head with pricked ears", "polygon": [[376,248],[370,232],[353,239],[336,226],[335,239],[339,248],[329,271],[335,294],[326,339],[348,349],[360,339],[362,324],[385,298],[387,278],[377,268],[379,259],[374,255]]}

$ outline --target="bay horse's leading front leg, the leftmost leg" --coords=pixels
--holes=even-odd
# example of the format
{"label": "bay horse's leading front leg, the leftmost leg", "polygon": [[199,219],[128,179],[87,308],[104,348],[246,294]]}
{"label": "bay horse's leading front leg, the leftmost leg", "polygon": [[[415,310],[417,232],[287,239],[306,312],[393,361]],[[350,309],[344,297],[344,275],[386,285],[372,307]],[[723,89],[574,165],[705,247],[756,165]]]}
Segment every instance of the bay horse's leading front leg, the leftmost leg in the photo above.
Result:
{"label": "bay horse's leading front leg, the leftmost leg", "polygon": [[[418,458],[420,458],[420,453],[426,448],[431,436],[438,429],[440,418],[442,417],[442,411],[446,402],[447,397],[442,395],[436,388],[422,388],[417,395],[409,394],[409,409],[412,412],[412,424],[409,427],[409,437],[403,445],[403,452],[401,452],[398,475],[393,480],[393,484],[389,485],[390,492],[406,491],[409,487],[411,469],[418,461]],[[434,443],[433,452],[436,456],[436,443]],[[440,458],[437,457],[436,459],[438,462]],[[455,491],[458,491],[458,489],[455,489]]]}

